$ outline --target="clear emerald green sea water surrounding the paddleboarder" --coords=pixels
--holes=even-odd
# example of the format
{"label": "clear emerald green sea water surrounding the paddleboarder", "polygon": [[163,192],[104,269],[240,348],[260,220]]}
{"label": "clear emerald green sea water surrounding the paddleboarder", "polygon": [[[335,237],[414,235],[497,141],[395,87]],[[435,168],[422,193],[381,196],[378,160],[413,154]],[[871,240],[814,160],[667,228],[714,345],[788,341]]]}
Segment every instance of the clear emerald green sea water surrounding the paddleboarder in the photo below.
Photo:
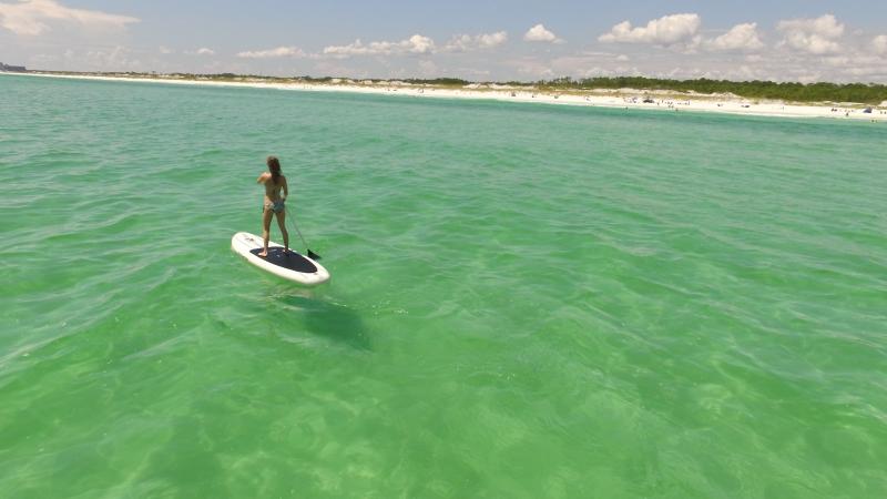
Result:
{"label": "clear emerald green sea water surrounding the paddleboarder", "polygon": [[[2,497],[887,496],[883,123],[27,77],[0,111]],[[267,154],[322,288],[230,249]]]}

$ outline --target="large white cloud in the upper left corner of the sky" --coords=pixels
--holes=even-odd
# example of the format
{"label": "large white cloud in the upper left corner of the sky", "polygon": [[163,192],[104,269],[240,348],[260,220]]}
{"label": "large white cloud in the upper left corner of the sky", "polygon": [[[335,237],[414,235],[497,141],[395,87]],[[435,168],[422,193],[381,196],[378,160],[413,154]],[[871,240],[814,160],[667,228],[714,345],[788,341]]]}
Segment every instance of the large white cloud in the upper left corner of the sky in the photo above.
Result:
{"label": "large white cloud in the upper left corner of the sky", "polygon": [[0,27],[16,34],[42,34],[51,30],[49,24],[51,22],[74,23],[85,28],[122,29],[126,24],[139,22],[139,19],[98,10],[72,9],[54,0],[0,3]]}

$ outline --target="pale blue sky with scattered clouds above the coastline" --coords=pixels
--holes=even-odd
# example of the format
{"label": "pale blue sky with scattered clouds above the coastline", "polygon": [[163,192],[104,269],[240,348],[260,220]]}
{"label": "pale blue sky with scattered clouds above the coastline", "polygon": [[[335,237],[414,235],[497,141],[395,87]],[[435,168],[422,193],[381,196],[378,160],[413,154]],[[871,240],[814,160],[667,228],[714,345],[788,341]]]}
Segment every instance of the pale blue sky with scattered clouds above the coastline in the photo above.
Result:
{"label": "pale blue sky with scattered clouds above the coastline", "polygon": [[887,82],[887,1],[0,0],[34,69]]}

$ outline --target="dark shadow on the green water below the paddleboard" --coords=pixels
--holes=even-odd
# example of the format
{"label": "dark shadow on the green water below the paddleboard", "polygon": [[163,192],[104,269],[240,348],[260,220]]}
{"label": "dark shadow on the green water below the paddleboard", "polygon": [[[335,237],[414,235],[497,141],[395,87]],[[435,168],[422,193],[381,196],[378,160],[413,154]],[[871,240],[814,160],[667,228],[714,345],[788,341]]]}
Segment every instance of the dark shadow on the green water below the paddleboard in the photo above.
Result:
{"label": "dark shadow on the green water below the paddleboard", "polygon": [[357,310],[310,292],[281,295],[275,299],[298,312],[308,333],[358,350],[373,349],[368,330]]}

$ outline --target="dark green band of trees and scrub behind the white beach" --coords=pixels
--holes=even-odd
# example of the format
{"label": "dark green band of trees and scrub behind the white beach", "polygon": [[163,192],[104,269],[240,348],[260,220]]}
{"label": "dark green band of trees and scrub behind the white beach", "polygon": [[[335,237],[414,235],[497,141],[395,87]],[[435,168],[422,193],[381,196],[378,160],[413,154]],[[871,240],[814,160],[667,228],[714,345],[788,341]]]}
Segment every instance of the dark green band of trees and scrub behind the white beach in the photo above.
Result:
{"label": "dark green band of trees and scrub behind the white beach", "polygon": [[492,85],[507,85],[520,89],[538,89],[540,91],[561,92],[593,92],[595,90],[633,89],[636,91],[667,91],[675,93],[695,93],[700,95],[732,94],[750,100],[774,100],[797,103],[857,103],[863,105],[881,105],[887,101],[887,85],[877,83],[799,83],[774,81],[730,81],[710,80],[700,78],[695,80],[670,80],[645,77],[595,77],[572,79],[570,77],[539,81],[508,81],[508,82],[472,82],[459,78],[434,79],[349,79],[334,77],[267,77],[261,74],[235,73],[139,73],[139,72],[61,72],[42,71],[52,74],[79,74],[124,78],[156,78],[196,81],[261,81],[267,83],[310,83],[310,84],[409,84],[439,88],[463,88],[478,85],[489,88]]}

